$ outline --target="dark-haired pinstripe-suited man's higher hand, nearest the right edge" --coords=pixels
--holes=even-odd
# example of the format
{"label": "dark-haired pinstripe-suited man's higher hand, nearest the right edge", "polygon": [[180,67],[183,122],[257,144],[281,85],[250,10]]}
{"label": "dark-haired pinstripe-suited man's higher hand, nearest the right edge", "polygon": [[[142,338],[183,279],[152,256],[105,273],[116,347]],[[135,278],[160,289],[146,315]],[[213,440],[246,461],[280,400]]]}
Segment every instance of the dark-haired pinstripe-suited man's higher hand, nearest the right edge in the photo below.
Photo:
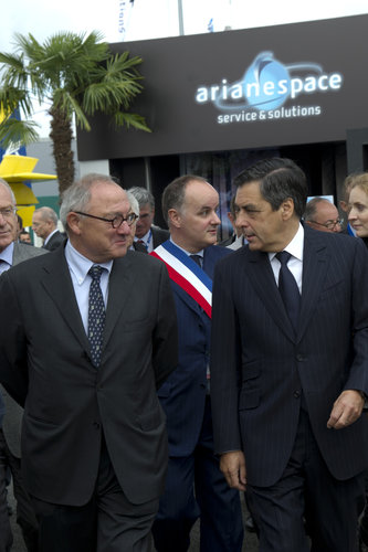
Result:
{"label": "dark-haired pinstripe-suited man's higher hand, nearest the right edge", "polygon": [[327,422],[328,429],[343,429],[353,424],[361,414],[365,400],[359,391],[349,389],[336,399]]}

